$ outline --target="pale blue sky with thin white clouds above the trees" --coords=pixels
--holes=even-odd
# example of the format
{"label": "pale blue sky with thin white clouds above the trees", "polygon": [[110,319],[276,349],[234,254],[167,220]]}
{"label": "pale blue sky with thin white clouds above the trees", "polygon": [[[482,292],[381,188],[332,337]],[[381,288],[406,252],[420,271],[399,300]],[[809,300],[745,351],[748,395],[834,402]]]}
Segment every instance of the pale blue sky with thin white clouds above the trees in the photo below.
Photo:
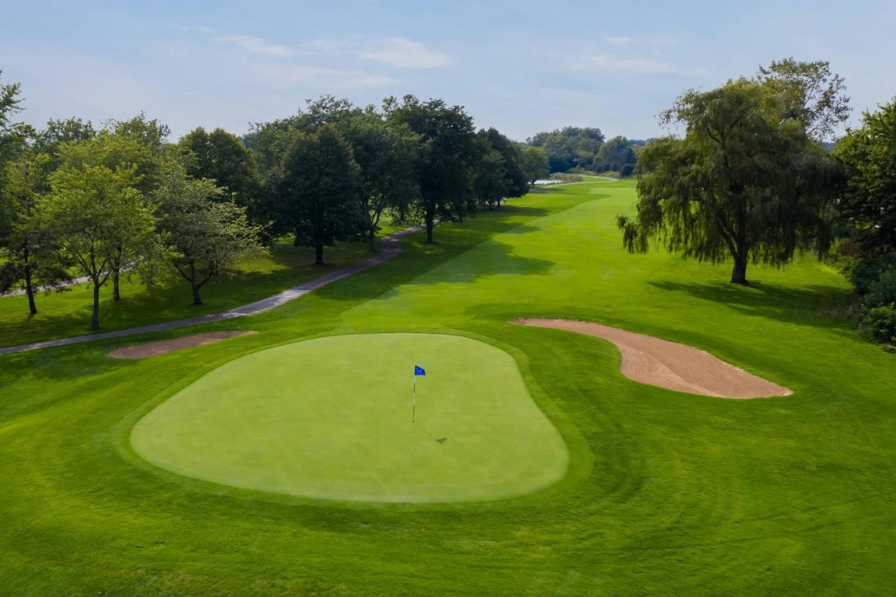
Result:
{"label": "pale blue sky with thin white clouds above the trees", "polygon": [[860,113],[896,95],[896,2],[41,2],[0,0],[0,82],[22,120],[141,111],[175,138],[245,133],[323,94],[413,93],[523,141],[564,125],[630,139],[657,114],[794,56],[827,60]]}

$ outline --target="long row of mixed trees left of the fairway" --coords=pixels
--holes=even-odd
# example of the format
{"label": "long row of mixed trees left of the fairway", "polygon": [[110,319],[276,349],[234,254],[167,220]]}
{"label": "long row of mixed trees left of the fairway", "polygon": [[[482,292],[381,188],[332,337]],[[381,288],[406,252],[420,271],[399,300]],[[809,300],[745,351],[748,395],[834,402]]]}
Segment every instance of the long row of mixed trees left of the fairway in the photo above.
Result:
{"label": "long row of mixed trees left of the fairway", "polygon": [[14,121],[20,86],[0,84],[0,293],[75,277],[120,300],[122,275],[152,285],[175,273],[194,304],[213,277],[278,238],[313,247],[366,241],[383,217],[439,221],[496,209],[547,175],[547,158],[494,128],[477,130],[441,99],[360,108],[323,97],[244,138],[196,128],[177,143],[145,115],[101,126],[79,118],[38,130]]}

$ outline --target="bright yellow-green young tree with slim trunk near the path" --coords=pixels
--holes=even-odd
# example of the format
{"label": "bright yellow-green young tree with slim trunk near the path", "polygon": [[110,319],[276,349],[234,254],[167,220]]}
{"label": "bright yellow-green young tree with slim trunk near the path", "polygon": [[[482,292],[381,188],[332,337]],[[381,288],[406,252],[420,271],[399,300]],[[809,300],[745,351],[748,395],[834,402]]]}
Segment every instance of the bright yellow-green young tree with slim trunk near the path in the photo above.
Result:
{"label": "bright yellow-green young tree with slim trunk near the path", "polygon": [[53,192],[41,203],[42,229],[93,285],[90,329],[99,330],[99,289],[114,265],[136,263],[157,245],[153,209],[136,188],[136,167],[64,165],[50,176]]}

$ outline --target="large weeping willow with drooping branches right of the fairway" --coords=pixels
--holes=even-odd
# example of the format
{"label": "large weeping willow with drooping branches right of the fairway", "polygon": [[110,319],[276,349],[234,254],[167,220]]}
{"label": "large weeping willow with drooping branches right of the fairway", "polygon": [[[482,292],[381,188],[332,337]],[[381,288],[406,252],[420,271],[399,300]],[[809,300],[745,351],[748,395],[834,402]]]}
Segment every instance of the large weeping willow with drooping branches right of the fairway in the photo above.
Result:
{"label": "large weeping willow with drooping branches right of the fairway", "polygon": [[655,239],[685,258],[732,259],[731,282],[745,284],[749,263],[780,267],[797,250],[830,246],[840,170],[771,86],[687,91],[661,119],[685,134],[641,153],[637,214],[618,218],[630,252]]}

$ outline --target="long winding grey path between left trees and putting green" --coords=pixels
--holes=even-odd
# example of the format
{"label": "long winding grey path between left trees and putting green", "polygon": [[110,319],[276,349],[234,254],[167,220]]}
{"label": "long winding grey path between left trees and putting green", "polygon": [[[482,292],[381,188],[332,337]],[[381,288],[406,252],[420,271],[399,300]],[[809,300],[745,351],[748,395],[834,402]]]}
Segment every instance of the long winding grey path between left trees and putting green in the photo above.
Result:
{"label": "long winding grey path between left trees and putting green", "polygon": [[208,324],[213,321],[222,321],[225,319],[233,319],[234,317],[244,317],[263,313],[274,307],[280,307],[292,299],[297,299],[312,290],[329,284],[332,281],[347,278],[353,273],[363,272],[370,269],[376,264],[382,264],[383,261],[392,259],[395,255],[401,253],[401,244],[399,238],[409,235],[412,232],[421,230],[420,226],[413,226],[404,229],[389,236],[383,237],[380,241],[380,252],[358,264],[349,265],[331,273],[325,273],[320,278],[306,281],[298,286],[293,286],[287,290],[283,290],[267,299],[256,300],[254,303],[236,307],[229,311],[221,313],[211,313],[206,316],[189,317],[187,319],[177,319],[176,321],[166,321],[160,324],[143,325],[142,327],[131,327],[126,330],[116,330],[115,332],[90,333],[83,336],[73,336],[72,338],[59,338],[57,340],[45,340],[43,342],[31,342],[30,344],[19,344],[17,346],[0,347],[0,354],[8,354],[11,352],[22,352],[24,350],[37,350],[49,348],[51,346],[67,346],[69,344],[80,344],[81,342],[93,342],[95,340],[106,340],[108,338],[121,338],[123,336],[134,336],[140,333],[163,332],[165,330],[175,330],[179,327],[188,327],[190,325]]}

